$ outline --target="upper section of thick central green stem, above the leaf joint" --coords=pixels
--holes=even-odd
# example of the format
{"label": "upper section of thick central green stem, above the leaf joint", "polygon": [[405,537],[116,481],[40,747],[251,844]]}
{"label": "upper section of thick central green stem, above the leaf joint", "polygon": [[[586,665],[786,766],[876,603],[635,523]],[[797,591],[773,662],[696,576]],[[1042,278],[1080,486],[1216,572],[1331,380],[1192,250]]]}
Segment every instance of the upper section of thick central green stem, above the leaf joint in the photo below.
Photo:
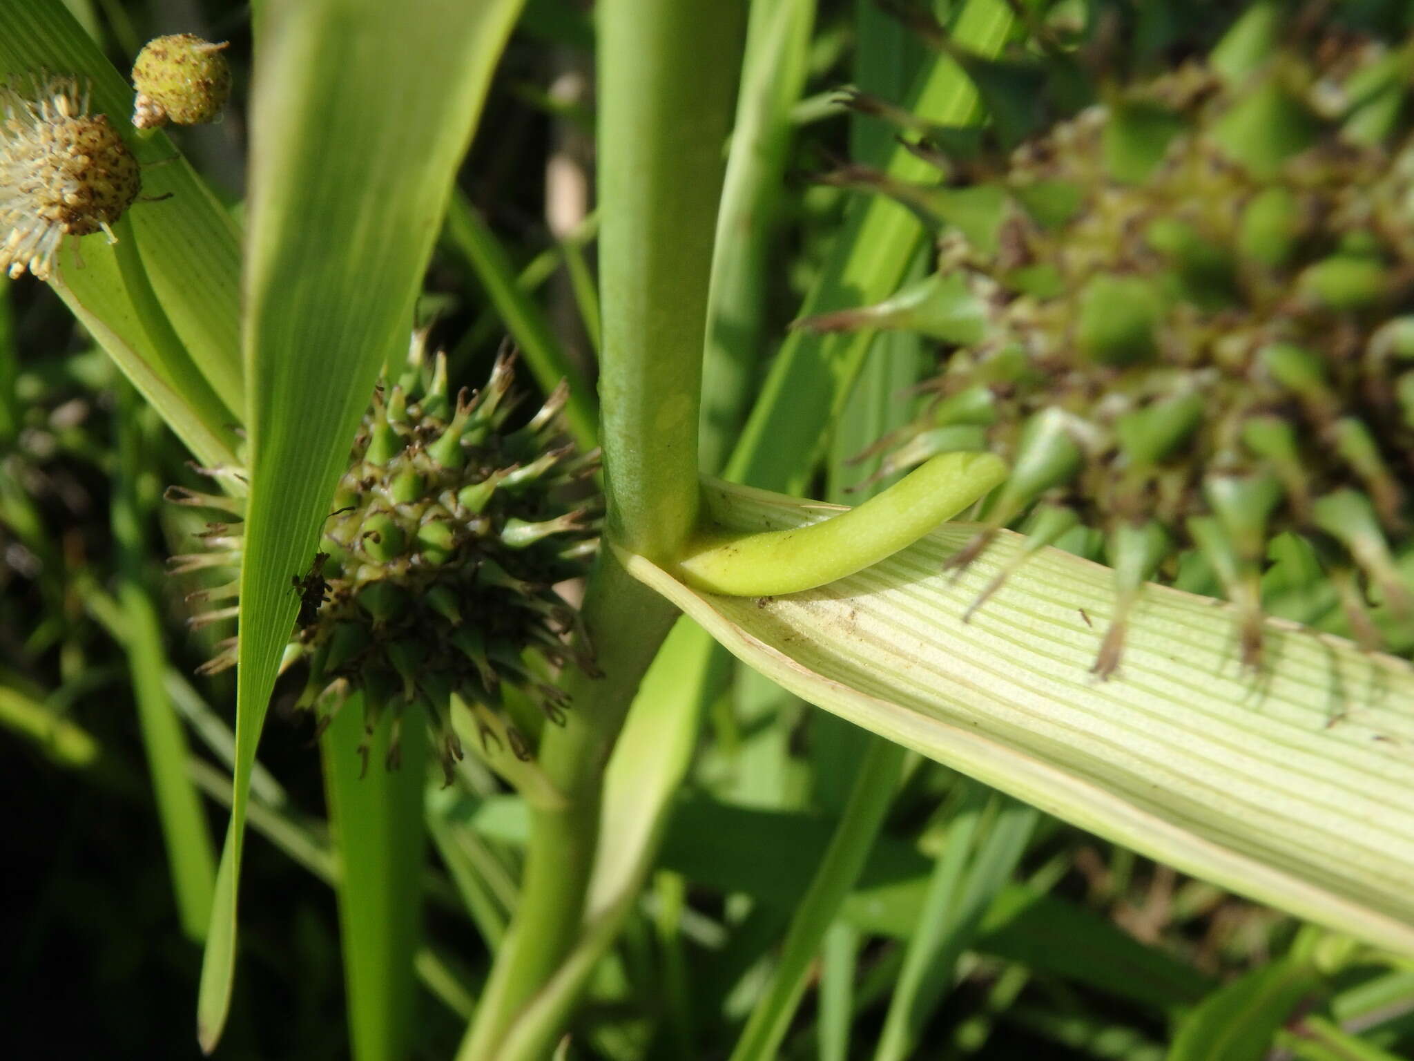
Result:
{"label": "upper section of thick central green stem, above the leaf joint", "polygon": [[697,521],[707,283],[741,4],[600,8],[604,467],[609,530],[669,560]]}

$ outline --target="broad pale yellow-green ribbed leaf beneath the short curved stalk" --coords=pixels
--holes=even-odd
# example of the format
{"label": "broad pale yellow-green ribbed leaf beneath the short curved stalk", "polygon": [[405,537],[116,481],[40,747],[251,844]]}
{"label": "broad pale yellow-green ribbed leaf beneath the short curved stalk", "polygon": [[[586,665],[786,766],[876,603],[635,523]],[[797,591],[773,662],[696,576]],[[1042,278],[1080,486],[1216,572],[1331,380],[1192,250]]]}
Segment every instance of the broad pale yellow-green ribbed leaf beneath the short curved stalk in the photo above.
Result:
{"label": "broad pale yellow-green ribbed leaf beneath the short curved stalk", "polygon": [[[834,509],[710,484],[742,529]],[[1120,671],[1090,673],[1114,611],[1109,570],[1048,549],[970,622],[1022,539],[959,577],[974,528],[783,597],[694,593],[632,574],[802,697],[1111,840],[1383,946],[1414,953],[1414,668],[1284,622],[1266,669],[1222,603],[1147,587]]]}

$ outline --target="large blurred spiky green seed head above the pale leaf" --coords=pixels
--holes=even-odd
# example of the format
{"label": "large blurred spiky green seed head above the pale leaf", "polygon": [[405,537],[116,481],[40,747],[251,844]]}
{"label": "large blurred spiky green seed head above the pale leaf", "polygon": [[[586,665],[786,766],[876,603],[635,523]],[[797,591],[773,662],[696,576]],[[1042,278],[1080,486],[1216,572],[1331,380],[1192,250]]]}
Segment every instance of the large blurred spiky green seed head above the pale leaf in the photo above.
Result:
{"label": "large blurred spiky green seed head above the pale leaf", "polygon": [[[1032,506],[1073,509],[1120,591],[1102,673],[1150,579],[1234,600],[1249,663],[1261,608],[1414,651],[1414,55],[1377,129],[1360,86],[1396,54],[1342,44],[1117,91],[962,187],[834,178],[930,221],[940,269],[803,324],[946,344],[892,467],[971,448],[984,410],[1015,471],[960,563]],[[1294,591],[1278,542],[1319,586]]]}

